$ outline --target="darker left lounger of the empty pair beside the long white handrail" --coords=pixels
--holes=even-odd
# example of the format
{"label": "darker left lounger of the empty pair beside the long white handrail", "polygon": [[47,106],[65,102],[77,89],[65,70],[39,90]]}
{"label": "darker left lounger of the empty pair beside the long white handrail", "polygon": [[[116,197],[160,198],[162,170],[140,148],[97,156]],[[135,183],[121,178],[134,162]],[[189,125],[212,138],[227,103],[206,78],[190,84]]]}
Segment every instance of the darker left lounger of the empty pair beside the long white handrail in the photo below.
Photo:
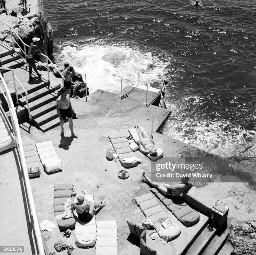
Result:
{"label": "darker left lounger of the empty pair beside the long white handrail", "polygon": [[34,144],[28,144],[23,146],[26,165],[28,168],[28,177],[38,177],[41,174],[42,164],[36,152],[36,146]]}

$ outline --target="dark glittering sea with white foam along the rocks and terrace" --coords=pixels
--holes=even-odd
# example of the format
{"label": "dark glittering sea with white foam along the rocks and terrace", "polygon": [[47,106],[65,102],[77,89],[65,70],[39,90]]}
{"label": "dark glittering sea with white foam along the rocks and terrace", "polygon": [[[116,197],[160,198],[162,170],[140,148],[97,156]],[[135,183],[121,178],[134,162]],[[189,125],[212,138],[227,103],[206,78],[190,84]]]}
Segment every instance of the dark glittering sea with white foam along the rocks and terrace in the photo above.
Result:
{"label": "dark glittering sea with white foam along the rocks and terrace", "polygon": [[[43,0],[55,61],[119,93],[132,66],[169,81],[164,134],[221,156],[255,143],[255,0]],[[128,73],[125,82],[136,82]]]}

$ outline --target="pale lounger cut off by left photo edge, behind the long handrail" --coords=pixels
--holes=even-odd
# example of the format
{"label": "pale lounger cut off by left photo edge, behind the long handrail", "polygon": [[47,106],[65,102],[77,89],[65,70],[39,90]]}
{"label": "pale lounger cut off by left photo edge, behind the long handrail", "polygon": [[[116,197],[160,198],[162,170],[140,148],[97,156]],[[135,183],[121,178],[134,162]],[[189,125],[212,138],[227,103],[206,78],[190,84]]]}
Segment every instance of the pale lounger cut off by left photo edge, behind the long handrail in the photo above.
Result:
{"label": "pale lounger cut off by left photo edge, behind the long handrail", "polygon": [[2,107],[0,107],[0,153],[16,146],[13,133],[10,131],[7,121],[1,113],[2,110]]}

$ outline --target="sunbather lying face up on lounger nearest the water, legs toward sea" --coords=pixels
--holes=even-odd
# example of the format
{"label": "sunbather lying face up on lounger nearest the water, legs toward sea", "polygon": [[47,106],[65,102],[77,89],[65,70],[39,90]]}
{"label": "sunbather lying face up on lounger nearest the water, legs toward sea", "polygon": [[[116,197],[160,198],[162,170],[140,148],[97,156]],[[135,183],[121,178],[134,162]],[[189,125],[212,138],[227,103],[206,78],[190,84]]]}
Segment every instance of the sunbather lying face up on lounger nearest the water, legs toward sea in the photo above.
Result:
{"label": "sunbather lying face up on lounger nearest the water, legs toward sea", "polygon": [[149,154],[150,156],[157,156],[157,147],[151,135],[147,135],[145,131],[141,130],[137,123],[135,123],[135,128],[137,130],[140,141],[138,142],[138,149],[144,154]]}

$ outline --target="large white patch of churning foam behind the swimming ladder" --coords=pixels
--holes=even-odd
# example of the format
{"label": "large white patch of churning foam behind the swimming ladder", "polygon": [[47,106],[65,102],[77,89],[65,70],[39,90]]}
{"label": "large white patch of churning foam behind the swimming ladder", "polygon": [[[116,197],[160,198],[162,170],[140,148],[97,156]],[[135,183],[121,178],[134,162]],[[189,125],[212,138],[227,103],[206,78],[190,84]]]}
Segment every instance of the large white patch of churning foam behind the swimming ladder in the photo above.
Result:
{"label": "large white patch of churning foam behind the swimming ladder", "polygon": [[[145,82],[157,76],[159,72],[163,75],[165,66],[164,62],[152,56],[151,52],[143,53],[126,45],[102,45],[97,42],[83,47],[64,46],[57,61],[60,66],[66,61],[71,63],[77,72],[82,73],[83,78],[86,73],[90,93],[97,89],[118,93],[121,77],[132,66],[141,71]],[[132,85],[138,81],[138,73],[132,70],[125,78],[123,85]]]}

